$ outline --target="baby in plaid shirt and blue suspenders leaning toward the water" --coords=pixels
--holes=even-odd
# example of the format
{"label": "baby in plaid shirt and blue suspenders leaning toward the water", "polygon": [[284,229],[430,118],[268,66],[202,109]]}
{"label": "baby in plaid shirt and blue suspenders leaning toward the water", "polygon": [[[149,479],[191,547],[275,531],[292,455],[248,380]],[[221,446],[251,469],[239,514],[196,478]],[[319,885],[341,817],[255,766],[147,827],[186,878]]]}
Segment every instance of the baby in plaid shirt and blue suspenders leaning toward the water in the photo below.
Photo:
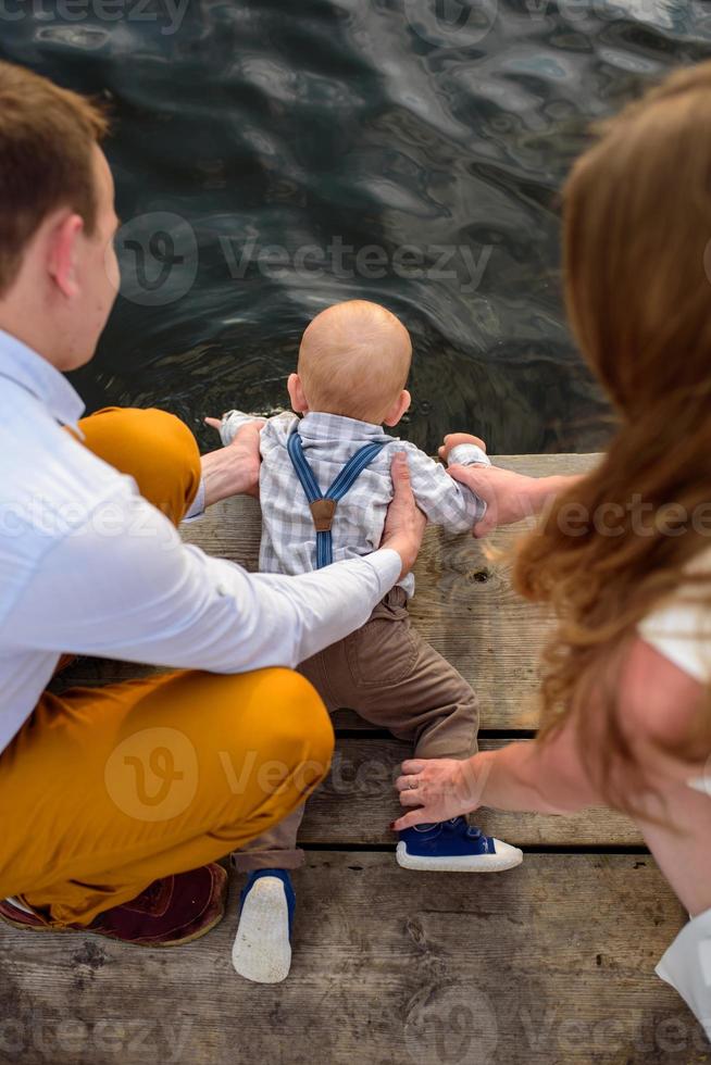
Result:
{"label": "baby in plaid shirt and blue suspenders leaning toward the water", "polygon": [[[261,434],[260,569],[299,574],[381,543],[392,499],[390,464],[406,451],[417,505],[434,525],[467,532],[484,502],[412,443],[386,434],[410,406],[406,384],[412,344],[385,308],[340,303],[311,323],[301,341],[298,373],[288,380],[294,414],[271,418]],[[301,418],[298,415],[302,415]],[[225,414],[223,443],[250,416]],[[449,461],[489,463],[472,443]],[[414,744],[416,759],[466,759],[476,751],[476,696],[457,669],[412,628],[408,576],[358,631],[300,666],[328,710],[358,711]],[[289,870],[303,861],[297,831],[303,807],[233,856],[249,874],[233,951],[235,968],[258,982],[278,982],[291,961],[295,894]],[[522,861],[514,847],[485,836],[463,817],[400,832],[397,861],[407,869],[499,872]]]}

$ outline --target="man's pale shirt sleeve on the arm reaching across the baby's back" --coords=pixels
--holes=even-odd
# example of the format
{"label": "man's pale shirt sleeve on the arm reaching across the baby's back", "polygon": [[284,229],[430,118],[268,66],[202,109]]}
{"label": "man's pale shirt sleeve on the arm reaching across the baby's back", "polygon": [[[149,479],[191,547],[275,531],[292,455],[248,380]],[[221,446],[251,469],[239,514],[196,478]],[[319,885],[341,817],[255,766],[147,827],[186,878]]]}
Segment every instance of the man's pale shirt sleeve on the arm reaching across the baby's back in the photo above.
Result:
{"label": "man's pale shirt sleeve on the arm reaching across the baby's back", "polygon": [[52,544],[7,640],[213,673],[294,667],[363,625],[400,569],[386,549],[297,577],[249,574],[129,496]]}

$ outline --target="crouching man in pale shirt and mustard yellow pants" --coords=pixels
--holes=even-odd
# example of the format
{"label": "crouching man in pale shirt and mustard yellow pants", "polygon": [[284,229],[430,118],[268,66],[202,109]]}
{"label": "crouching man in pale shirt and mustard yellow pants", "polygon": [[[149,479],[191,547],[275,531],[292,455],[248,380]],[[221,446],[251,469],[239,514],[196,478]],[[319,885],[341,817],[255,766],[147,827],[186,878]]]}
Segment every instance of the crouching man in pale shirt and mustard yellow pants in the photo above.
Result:
{"label": "crouching man in pale shirt and mustard yellow pants", "polygon": [[[62,372],[93,354],[118,286],[105,131],[86,100],[0,64],[0,916],[174,945],[222,916],[212,863],[325,775],[327,714],[284,667],[366,621],[424,519],[400,456],[384,549],[248,575],[176,526],[257,490],[253,428],[200,461],[160,411],[78,421]],[[187,672],[60,697],[63,651]]]}

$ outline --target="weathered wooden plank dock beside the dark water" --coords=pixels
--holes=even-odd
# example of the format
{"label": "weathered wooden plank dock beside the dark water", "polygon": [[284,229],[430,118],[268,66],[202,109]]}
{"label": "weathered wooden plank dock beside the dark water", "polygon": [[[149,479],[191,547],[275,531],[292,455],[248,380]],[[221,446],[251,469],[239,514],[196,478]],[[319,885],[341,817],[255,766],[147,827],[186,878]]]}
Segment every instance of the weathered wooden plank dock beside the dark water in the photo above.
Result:
{"label": "weathered wooden plank dock beside the dark water", "polygon": [[[594,455],[500,458],[573,473]],[[510,544],[522,527],[491,538]],[[213,508],[186,539],[254,567],[259,510]],[[428,530],[415,624],[477,689],[482,746],[536,728],[537,654],[549,619],[512,591],[471,537]],[[67,684],[136,676],[82,660]],[[330,779],[309,805],[295,875],[294,967],[276,987],[236,976],[239,878],[223,924],[178,950],[0,928],[0,1063],[24,1065],[558,1065],[711,1062],[711,1048],[653,966],[685,914],[634,826],[483,812],[524,848],[489,876],[395,863],[391,787],[409,750],[351,711],[336,719]]]}

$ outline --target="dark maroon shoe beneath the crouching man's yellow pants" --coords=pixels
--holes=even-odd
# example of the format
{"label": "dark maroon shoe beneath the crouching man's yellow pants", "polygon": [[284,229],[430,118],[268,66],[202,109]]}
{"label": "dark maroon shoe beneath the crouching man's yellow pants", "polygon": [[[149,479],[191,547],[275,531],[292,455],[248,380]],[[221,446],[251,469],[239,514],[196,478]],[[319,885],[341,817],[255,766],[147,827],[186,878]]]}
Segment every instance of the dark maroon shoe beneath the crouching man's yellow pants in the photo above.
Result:
{"label": "dark maroon shoe beneath the crouching man's yellow pants", "polygon": [[[220,924],[225,913],[227,874],[221,865],[154,880],[132,902],[99,914],[90,925],[52,925],[13,899],[0,901],[0,919],[32,931],[82,931],[135,947],[180,947]],[[23,903],[25,905],[25,903]]]}

